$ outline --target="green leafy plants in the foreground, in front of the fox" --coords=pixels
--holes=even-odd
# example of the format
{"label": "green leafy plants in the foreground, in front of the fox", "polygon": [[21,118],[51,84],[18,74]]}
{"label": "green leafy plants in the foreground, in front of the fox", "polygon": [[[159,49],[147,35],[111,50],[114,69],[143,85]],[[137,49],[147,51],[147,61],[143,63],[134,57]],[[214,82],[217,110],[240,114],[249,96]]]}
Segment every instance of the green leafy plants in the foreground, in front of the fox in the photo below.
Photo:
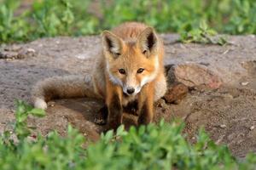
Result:
{"label": "green leafy plants in the foreground, in front of the fox", "polygon": [[[67,136],[55,131],[47,137],[40,133],[29,138],[31,129],[26,126],[27,116],[44,116],[44,111],[33,109],[22,101],[16,102],[15,133],[0,136],[0,169],[240,169],[256,166],[256,155],[244,160],[231,156],[224,145],[216,145],[201,129],[195,144],[185,139],[183,123],[131,127],[120,126],[116,133],[108,131],[96,143],[83,147],[86,139],[76,129],[67,127]],[[17,141],[14,141],[14,136]]]}

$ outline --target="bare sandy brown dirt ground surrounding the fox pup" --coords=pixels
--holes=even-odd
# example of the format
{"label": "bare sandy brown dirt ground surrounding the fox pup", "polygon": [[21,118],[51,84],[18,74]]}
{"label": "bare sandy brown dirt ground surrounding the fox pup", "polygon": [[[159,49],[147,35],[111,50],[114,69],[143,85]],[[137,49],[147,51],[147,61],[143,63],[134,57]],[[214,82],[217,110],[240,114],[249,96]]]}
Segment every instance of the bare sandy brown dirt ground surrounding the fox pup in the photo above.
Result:
{"label": "bare sandy brown dirt ground surrounding the fox pup", "polygon": [[[229,37],[230,45],[182,44],[176,35],[162,35],[166,65],[195,63],[216,72],[223,80],[218,89],[189,88],[177,105],[156,103],[154,121],[182,118],[189,141],[203,126],[217,144],[227,144],[234,156],[256,152],[256,37]],[[0,132],[14,122],[14,99],[30,101],[32,85],[52,76],[90,74],[100,49],[99,37],[44,38],[26,44],[1,47]],[[0,58],[1,58],[0,55]],[[12,59],[16,58],[16,59]],[[95,99],[58,99],[49,102],[47,116],[29,123],[47,135],[56,129],[65,135],[67,123],[96,141],[104,126],[94,123],[103,102]],[[125,114],[125,125],[136,124],[137,116]]]}

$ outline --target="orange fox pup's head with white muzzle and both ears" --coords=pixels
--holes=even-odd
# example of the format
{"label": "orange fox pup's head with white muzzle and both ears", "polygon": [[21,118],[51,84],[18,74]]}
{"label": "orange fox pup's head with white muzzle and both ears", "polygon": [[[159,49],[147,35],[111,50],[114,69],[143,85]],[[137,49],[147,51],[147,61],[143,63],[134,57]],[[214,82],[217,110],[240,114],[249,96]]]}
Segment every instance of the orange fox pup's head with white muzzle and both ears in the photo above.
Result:
{"label": "orange fox pup's head with white muzzle and both ears", "polygon": [[103,31],[102,44],[109,79],[121,86],[125,94],[138,94],[157,76],[159,39],[152,27],[131,40]]}

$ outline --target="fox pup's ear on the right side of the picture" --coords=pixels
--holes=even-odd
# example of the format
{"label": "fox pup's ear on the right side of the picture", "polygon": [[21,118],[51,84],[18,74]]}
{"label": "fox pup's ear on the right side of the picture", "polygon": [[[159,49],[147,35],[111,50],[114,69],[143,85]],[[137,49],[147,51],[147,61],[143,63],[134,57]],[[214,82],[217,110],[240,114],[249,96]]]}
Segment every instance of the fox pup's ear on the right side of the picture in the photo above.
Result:
{"label": "fox pup's ear on the right side of the picture", "polygon": [[158,37],[154,28],[146,28],[137,39],[137,46],[141,48],[143,54],[154,54],[158,48]]}

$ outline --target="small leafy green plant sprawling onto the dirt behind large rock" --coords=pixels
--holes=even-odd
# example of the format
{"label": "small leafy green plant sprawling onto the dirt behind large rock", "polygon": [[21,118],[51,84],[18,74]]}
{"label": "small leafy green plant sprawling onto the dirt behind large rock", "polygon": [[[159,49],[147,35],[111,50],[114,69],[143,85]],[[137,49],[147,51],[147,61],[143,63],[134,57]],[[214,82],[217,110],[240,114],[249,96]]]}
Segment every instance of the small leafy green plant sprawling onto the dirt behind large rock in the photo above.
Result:
{"label": "small leafy green plant sprawling onto the dirt behind large rock", "polygon": [[209,28],[205,20],[202,20],[199,28],[192,29],[191,31],[185,31],[180,34],[181,42],[197,42],[197,43],[211,43],[218,45],[225,45],[227,43],[226,38],[218,36],[217,31]]}

